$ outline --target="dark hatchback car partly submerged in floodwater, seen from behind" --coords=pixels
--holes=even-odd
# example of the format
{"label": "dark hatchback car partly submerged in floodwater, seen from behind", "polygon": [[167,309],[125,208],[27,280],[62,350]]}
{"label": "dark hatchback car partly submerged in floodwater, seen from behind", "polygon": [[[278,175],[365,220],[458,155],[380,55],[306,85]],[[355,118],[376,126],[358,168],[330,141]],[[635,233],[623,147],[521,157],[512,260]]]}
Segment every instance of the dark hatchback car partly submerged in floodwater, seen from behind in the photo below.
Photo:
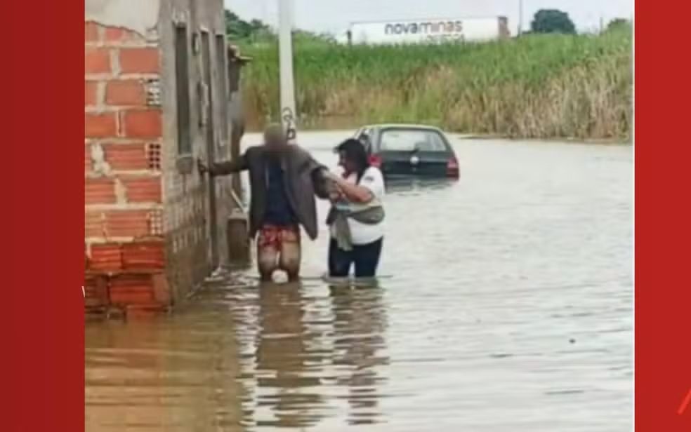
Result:
{"label": "dark hatchback car partly submerged in floodwater, seen from behind", "polygon": [[442,130],[431,126],[381,124],[355,133],[372,165],[384,177],[459,177],[459,163]]}

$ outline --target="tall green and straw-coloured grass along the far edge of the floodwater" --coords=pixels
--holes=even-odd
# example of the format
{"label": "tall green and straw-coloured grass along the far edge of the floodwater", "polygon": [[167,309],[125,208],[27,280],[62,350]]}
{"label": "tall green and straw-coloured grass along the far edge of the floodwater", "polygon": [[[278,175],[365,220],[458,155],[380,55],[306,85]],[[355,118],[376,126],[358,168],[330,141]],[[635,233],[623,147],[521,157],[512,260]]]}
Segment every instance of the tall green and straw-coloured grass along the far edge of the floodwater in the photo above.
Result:
{"label": "tall green and straw-coloured grass along the far edge of the floodwater", "polygon": [[[251,126],[277,119],[274,43],[246,47]],[[631,131],[631,31],[529,35],[490,43],[341,46],[296,41],[296,104],[303,124],[430,123],[508,137],[627,139]]]}

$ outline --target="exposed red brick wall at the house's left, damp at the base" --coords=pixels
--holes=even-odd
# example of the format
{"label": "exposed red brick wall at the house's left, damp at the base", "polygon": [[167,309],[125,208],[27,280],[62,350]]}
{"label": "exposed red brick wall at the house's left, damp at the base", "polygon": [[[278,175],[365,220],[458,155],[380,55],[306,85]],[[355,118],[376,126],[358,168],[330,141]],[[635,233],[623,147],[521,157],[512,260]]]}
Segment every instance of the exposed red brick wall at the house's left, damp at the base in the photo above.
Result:
{"label": "exposed red brick wall at the house's left, damp at the base", "polygon": [[170,296],[162,278],[158,41],[96,22],[84,27],[87,305],[161,309]]}

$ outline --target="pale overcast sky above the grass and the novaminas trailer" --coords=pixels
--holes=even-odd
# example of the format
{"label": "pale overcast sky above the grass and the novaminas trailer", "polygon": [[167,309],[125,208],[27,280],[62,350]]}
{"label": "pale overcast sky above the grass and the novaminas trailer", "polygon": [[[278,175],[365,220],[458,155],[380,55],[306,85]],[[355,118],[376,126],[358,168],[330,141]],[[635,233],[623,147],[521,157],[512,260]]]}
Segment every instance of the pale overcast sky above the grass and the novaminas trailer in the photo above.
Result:
{"label": "pale overcast sky above the grass and the novaminas trailer", "polygon": [[[279,0],[225,0],[243,19],[277,23]],[[296,27],[340,34],[350,22],[415,18],[471,18],[504,15],[511,32],[518,26],[519,0],[292,0]],[[597,29],[612,18],[633,18],[633,0],[523,0],[523,27],[542,8],[569,13],[580,31]]]}

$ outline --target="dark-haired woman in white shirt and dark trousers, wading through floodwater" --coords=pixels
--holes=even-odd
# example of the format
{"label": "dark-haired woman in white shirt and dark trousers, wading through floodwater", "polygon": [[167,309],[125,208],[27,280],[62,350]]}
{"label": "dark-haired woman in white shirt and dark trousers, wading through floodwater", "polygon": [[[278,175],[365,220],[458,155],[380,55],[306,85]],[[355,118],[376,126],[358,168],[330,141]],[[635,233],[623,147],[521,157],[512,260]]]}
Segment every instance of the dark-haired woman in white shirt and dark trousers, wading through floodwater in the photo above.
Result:
{"label": "dark-haired woman in white shirt and dark trousers, wading through floodwater", "polygon": [[384,237],[383,175],[369,164],[360,141],[346,140],[336,150],[343,174],[331,175],[336,190],[327,219],[331,230],[329,276],[347,277],[355,266],[356,278],[373,278]]}

